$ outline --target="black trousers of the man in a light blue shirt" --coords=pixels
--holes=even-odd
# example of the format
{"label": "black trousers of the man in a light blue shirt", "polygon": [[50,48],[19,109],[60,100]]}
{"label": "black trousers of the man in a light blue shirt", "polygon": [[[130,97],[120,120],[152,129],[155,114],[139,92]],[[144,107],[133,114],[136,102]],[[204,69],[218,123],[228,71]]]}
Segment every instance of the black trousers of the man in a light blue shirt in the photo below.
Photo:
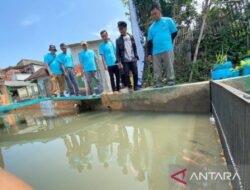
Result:
{"label": "black trousers of the man in a light blue shirt", "polygon": [[[120,71],[118,65],[108,67],[111,87],[113,92],[120,90]],[[114,78],[115,76],[115,78]]]}

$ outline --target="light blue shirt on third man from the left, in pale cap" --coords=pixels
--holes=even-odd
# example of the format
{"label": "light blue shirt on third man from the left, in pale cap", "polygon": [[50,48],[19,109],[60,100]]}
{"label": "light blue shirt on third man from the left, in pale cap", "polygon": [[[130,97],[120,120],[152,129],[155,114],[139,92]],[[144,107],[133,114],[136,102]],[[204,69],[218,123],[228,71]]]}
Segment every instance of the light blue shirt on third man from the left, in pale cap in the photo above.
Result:
{"label": "light blue shirt on third man from the left, in pale cap", "polygon": [[84,72],[96,71],[96,54],[93,50],[83,50],[79,53],[79,61],[83,63]]}

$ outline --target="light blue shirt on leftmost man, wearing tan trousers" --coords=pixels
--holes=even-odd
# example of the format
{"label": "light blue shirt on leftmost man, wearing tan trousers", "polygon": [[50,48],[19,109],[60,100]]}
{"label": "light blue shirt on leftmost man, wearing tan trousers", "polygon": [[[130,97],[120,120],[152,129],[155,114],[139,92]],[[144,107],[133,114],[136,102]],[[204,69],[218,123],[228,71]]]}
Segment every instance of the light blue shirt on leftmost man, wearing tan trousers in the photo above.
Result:
{"label": "light blue shirt on leftmost man, wearing tan trousers", "polygon": [[61,64],[57,61],[56,55],[48,53],[44,56],[44,63],[49,65],[52,74],[63,74]]}

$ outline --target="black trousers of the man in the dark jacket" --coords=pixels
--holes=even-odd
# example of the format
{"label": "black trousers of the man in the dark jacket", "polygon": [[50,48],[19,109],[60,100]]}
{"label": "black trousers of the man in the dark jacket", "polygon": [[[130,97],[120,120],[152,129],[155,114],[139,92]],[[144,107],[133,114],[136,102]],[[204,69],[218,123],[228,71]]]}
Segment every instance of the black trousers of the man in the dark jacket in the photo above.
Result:
{"label": "black trousers of the man in the dark jacket", "polygon": [[128,88],[132,88],[131,81],[129,78],[129,71],[133,74],[133,80],[134,80],[134,88],[137,87],[138,83],[138,69],[137,69],[137,62],[124,62],[123,65],[123,71],[124,71],[124,78],[125,78],[125,86]]}

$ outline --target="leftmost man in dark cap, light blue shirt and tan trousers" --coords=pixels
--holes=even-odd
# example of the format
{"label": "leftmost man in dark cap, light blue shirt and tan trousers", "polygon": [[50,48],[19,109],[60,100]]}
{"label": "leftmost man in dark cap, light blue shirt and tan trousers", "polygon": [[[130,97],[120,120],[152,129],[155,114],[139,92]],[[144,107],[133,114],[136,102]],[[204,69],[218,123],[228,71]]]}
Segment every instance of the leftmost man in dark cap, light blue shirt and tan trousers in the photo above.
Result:
{"label": "leftmost man in dark cap, light blue shirt and tan trousers", "polygon": [[44,63],[47,64],[47,69],[51,77],[52,96],[57,96],[57,82],[59,83],[60,96],[64,96],[64,75],[62,66],[56,58],[56,46],[50,45],[49,51],[50,53],[44,56]]}

